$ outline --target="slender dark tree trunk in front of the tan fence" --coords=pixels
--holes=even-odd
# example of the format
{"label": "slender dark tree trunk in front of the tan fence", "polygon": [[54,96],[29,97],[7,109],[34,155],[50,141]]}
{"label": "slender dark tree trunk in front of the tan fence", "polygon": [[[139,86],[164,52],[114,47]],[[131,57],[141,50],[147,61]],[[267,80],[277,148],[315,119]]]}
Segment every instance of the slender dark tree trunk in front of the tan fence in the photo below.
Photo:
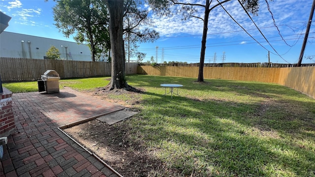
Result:
{"label": "slender dark tree trunk in front of the tan fence", "polygon": [[210,13],[209,6],[210,6],[210,2],[209,2],[209,0],[206,0],[205,17],[203,19],[203,34],[202,34],[202,40],[201,40],[199,73],[198,73],[197,82],[203,82],[203,65],[205,62],[208,21],[209,21],[209,13]]}

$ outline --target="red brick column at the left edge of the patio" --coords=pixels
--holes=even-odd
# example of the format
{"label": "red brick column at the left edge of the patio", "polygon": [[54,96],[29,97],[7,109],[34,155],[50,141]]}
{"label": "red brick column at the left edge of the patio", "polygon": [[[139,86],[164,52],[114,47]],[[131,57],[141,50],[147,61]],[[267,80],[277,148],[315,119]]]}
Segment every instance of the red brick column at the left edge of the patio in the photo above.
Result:
{"label": "red brick column at the left edge of the patio", "polygon": [[3,88],[3,93],[0,93],[0,137],[7,137],[15,131],[11,97],[12,92]]}

